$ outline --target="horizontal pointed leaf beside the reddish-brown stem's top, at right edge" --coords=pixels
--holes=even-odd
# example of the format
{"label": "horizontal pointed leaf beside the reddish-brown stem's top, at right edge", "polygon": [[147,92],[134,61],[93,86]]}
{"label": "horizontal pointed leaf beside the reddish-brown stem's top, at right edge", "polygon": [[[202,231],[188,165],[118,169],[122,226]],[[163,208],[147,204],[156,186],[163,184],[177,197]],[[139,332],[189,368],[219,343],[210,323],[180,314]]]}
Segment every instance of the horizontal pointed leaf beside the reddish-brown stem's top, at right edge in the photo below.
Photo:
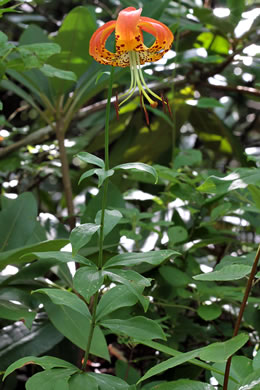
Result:
{"label": "horizontal pointed leaf beside the reddish-brown stem's top, at right edge", "polygon": [[232,264],[221,268],[219,271],[193,276],[193,279],[207,281],[238,280],[244,278],[246,275],[250,274],[250,272],[251,267],[249,265]]}

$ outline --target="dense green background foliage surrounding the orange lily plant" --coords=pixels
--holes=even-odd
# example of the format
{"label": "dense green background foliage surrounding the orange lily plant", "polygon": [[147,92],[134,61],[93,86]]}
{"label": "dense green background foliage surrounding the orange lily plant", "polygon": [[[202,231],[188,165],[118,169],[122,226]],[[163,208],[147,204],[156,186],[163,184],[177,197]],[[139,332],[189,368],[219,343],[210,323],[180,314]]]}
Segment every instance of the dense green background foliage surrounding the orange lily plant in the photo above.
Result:
{"label": "dense green background foliage surrounding the orange lily plant", "polygon": [[[78,389],[85,380],[93,389],[125,388],[110,383],[111,377],[105,385],[96,382],[97,372],[129,385],[144,376],[138,389],[222,388],[225,360],[237,350],[229,389],[258,380],[259,273],[244,333],[235,345],[214,343],[230,342],[260,241],[259,4],[2,0],[0,6],[0,371],[35,356],[53,375],[46,382],[49,371],[24,366],[0,388],[23,389],[35,372],[29,390],[37,381],[51,386],[59,380],[61,389]],[[87,267],[98,258],[94,226],[102,176],[91,174],[104,158],[109,80],[109,69],[89,56],[88,42],[97,25],[128,6],[142,6],[143,15],[175,35],[167,56],[144,66],[152,89],[168,97],[173,118],[162,107],[147,107],[147,126],[138,96],[123,106],[119,120],[112,109],[111,166],[146,163],[158,181],[147,169],[116,170],[110,178],[107,208],[117,214],[109,215],[114,228],[106,226],[104,256],[106,272],[114,276],[81,291],[82,280],[96,272]],[[114,94],[128,88],[129,78],[128,69],[115,69]],[[100,160],[90,161],[84,152]],[[78,230],[70,235],[75,223],[94,230],[83,238]],[[67,252],[59,252],[64,247]],[[164,257],[142,254],[153,250]],[[120,265],[129,265],[123,256],[129,252],[140,257],[127,273],[112,268],[118,253]],[[82,265],[74,280],[72,260]],[[139,290],[125,288],[126,275]],[[87,306],[72,292],[91,309],[97,289],[103,330],[94,332],[88,373],[74,375],[68,385],[80,366],[90,321]],[[125,319],[130,322],[124,330]],[[153,337],[145,341],[149,330]],[[45,354],[67,365],[37,358]]]}

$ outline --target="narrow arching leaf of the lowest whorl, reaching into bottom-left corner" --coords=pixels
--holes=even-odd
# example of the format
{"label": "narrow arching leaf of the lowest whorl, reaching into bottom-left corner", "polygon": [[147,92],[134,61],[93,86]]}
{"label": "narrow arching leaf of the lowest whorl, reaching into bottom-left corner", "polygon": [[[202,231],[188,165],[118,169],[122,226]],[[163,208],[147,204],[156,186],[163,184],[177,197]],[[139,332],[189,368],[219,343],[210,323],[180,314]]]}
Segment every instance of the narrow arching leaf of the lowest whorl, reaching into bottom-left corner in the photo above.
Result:
{"label": "narrow arching leaf of the lowest whorl, reaching into bottom-left corner", "polygon": [[24,367],[27,364],[37,364],[45,370],[50,370],[54,367],[77,370],[77,367],[73,364],[53,356],[43,356],[39,358],[35,356],[26,356],[11,364],[5,371],[3,379],[10,375],[13,371],[17,370],[18,368]]}

